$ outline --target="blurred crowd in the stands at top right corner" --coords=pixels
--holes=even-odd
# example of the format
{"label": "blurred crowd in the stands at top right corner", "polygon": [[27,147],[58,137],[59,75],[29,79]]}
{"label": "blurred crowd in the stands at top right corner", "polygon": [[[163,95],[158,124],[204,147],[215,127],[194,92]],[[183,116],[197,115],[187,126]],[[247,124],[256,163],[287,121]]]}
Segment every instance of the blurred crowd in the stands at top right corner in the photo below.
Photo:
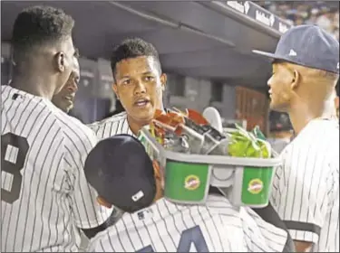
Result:
{"label": "blurred crowd in the stands at top right corner", "polygon": [[269,12],[293,25],[316,24],[339,40],[338,1],[259,1]]}

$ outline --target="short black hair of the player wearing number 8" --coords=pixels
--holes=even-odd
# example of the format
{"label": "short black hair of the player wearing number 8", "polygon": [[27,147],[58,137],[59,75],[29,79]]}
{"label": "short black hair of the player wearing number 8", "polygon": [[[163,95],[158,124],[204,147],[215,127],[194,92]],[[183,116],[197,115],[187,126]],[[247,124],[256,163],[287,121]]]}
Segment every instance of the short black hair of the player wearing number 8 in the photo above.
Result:
{"label": "short black hair of the player wearing number 8", "polygon": [[61,9],[32,6],[16,16],[12,33],[14,57],[38,46],[55,43],[72,34],[74,20]]}

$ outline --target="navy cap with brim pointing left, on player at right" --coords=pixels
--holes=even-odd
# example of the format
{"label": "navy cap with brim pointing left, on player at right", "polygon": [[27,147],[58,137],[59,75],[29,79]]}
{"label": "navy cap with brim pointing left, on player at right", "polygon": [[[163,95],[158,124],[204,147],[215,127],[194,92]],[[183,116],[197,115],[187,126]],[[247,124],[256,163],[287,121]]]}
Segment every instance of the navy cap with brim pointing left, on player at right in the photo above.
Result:
{"label": "navy cap with brim pointing left, on player at right", "polygon": [[253,52],[273,60],[339,73],[339,42],[316,25],[297,25],[289,29],[281,36],[274,53]]}

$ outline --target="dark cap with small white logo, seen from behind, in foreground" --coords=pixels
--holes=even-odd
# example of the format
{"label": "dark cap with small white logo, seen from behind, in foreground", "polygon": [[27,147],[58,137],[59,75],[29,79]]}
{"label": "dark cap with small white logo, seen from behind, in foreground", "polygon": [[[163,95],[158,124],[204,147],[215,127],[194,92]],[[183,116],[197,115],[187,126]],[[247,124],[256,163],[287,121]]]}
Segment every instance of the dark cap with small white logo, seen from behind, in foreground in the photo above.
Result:
{"label": "dark cap with small white logo, seen from behind, in foreground", "polygon": [[150,156],[141,142],[129,135],[103,139],[87,156],[87,181],[105,201],[122,211],[151,205],[156,183]]}

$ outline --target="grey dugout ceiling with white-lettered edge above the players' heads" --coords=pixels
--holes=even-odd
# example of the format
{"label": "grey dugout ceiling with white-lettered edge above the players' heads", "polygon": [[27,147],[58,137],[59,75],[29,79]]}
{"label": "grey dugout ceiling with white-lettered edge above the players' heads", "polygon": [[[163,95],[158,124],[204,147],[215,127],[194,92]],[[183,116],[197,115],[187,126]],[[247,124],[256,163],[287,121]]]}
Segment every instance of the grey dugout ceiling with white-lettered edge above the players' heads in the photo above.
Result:
{"label": "grey dugout ceiling with white-lettered edge above the players' heads", "polygon": [[[274,51],[288,24],[251,2],[226,3],[48,1],[73,15],[74,41],[88,58],[108,59],[113,44],[139,36],[158,48],[164,70],[264,88],[270,65],[251,50]],[[2,41],[16,14],[37,4],[1,1]]]}

